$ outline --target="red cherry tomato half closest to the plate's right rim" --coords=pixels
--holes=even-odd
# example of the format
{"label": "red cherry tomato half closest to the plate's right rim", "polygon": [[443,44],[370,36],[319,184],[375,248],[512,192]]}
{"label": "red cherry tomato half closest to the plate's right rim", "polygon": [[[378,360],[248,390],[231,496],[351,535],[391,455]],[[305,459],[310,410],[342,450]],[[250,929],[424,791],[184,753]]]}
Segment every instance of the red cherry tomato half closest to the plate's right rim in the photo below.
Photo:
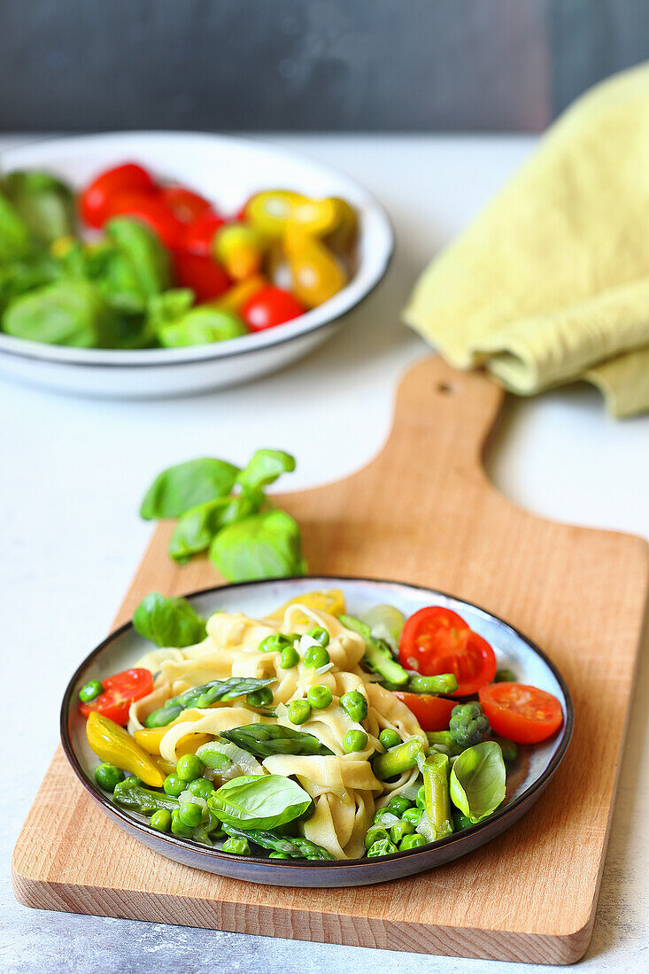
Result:
{"label": "red cherry tomato half closest to the plate's right rim", "polygon": [[478,693],[496,733],[516,744],[538,744],[563,723],[561,704],[545,690],[521,683],[494,683]]}

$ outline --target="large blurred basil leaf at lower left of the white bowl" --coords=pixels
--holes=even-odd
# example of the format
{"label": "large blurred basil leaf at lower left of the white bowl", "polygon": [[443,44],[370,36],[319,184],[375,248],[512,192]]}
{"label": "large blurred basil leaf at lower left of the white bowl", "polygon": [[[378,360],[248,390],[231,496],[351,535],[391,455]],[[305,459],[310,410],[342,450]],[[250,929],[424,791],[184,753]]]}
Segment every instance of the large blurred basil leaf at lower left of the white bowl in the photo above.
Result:
{"label": "large blurred basil leaf at lower left of the white bowl", "polygon": [[88,281],[60,281],[14,300],[2,317],[17,338],[74,348],[114,348],[118,319]]}

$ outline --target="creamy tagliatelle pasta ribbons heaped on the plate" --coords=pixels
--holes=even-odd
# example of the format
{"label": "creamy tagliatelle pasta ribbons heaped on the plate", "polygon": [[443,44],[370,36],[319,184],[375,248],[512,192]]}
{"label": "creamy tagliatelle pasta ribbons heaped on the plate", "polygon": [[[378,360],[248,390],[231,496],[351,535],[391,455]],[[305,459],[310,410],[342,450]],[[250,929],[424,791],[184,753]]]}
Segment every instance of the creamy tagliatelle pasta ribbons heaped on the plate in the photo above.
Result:
{"label": "creamy tagliatelle pasta ribbons heaped on the plate", "polygon": [[[283,669],[279,652],[259,650],[267,636],[300,636],[314,624],[329,635],[326,649],[330,663],[322,668],[309,667],[300,659]],[[242,613],[218,612],[208,620],[207,632],[207,638],[196,646],[155,650],[137,661],[137,666],[154,674],[154,689],[132,705],[129,731],[141,730],[147,715],[190,688],[231,677],[273,680],[269,688],[272,709],[247,706],[240,697],[183,711],[160,741],[161,757],[175,764],[178,744],[189,734],[209,734],[217,739],[221,731],[259,723],[293,728],[287,705],[305,699],[314,686],[327,688],[331,702],[322,709],[314,708],[299,730],[318,738],[332,753],[273,754],[261,761],[261,767],[264,772],[296,779],[313,799],[315,811],[299,827],[306,839],[323,846],[337,859],[362,856],[363,839],[376,809],[411,786],[419,774],[418,768],[410,768],[389,783],[378,780],[369,759],[385,750],[378,739],[380,731],[393,729],[401,740],[414,737],[422,747],[428,745],[426,733],[412,712],[362,669],[363,637],[338,618],[300,604],[288,605],[280,618],[261,620]],[[361,723],[339,703],[344,693],[353,691],[363,693],[367,700],[367,715]],[[343,739],[349,731],[366,734],[364,750],[346,753]]]}

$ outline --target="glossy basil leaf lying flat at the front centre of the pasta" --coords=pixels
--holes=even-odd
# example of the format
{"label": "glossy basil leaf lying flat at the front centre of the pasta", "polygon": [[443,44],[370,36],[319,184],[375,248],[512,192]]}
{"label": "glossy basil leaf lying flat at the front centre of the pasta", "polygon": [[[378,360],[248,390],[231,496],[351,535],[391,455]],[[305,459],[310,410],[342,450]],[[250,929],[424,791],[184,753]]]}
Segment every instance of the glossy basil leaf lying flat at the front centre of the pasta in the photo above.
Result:
{"label": "glossy basil leaf lying flat at the front centre of the pasta", "polygon": [[276,829],[303,815],[311,797],[281,774],[246,774],[232,778],[210,795],[211,810],[228,825]]}

